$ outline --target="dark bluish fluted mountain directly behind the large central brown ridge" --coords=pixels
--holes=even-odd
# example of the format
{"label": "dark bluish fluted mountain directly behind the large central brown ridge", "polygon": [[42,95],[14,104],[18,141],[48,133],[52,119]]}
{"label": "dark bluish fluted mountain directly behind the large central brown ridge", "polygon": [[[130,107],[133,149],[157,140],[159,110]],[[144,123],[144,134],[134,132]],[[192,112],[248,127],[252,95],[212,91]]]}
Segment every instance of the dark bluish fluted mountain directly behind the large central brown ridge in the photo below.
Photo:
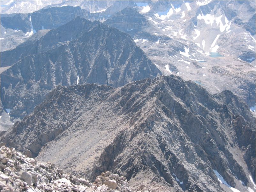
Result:
{"label": "dark bluish fluted mountain directly behind the large central brown ridge", "polygon": [[1,73],[1,110],[21,119],[56,85],[119,87],[161,74],[128,34],[80,17],[1,52],[1,67],[10,65]]}

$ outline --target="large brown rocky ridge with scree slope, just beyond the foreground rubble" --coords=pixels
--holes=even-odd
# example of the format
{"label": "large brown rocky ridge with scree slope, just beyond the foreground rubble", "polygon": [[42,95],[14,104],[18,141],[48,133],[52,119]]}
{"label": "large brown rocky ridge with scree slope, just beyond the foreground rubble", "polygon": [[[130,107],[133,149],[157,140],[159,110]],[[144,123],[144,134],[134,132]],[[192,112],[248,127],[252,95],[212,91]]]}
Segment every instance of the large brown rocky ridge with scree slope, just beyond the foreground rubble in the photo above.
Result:
{"label": "large brown rocky ridge with scree slope, just beyond the foreground rubble", "polygon": [[91,180],[106,170],[124,175],[133,187],[247,190],[251,175],[255,181],[255,118],[247,105],[230,91],[211,95],[173,75],[119,88],[57,86],[1,141]]}

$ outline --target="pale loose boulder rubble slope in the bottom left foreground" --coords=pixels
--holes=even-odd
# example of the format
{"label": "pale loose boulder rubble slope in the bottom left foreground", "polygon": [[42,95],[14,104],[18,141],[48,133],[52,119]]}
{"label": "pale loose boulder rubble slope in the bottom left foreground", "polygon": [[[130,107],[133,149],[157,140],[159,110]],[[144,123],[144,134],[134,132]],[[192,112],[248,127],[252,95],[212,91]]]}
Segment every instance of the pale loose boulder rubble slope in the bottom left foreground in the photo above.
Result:
{"label": "pale loose boulder rubble slope in the bottom left foreground", "polygon": [[94,183],[64,174],[52,163],[39,162],[1,143],[1,191],[133,191],[124,176],[109,171]]}

